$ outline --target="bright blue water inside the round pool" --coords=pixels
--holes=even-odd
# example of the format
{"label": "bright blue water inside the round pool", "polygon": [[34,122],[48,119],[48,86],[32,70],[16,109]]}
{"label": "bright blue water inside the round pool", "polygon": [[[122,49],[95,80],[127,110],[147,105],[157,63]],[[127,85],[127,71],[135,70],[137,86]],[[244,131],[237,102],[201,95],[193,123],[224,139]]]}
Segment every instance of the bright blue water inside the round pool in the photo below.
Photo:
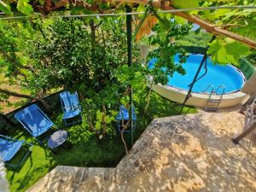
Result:
{"label": "bright blue water inside the round pool", "polygon": [[[178,89],[189,90],[189,84],[193,81],[195,73],[201,63],[203,55],[189,55],[186,63],[183,63],[183,68],[186,71],[185,75],[180,73],[174,73],[172,77],[169,77],[168,85],[176,87]],[[154,67],[154,62],[156,59],[152,59],[148,62],[148,67]],[[174,56],[174,61],[179,62],[178,55]],[[241,87],[244,84],[244,77],[236,67],[231,65],[221,66],[213,65],[211,58],[207,58],[207,74],[199,79],[194,87],[193,92],[203,92],[206,90],[209,84],[212,84],[216,89],[219,85],[224,84],[225,91],[224,93],[235,92],[241,90]],[[198,77],[205,73],[205,69],[201,68],[201,73]],[[211,90],[207,90],[209,93]],[[219,90],[222,91],[222,90]]]}

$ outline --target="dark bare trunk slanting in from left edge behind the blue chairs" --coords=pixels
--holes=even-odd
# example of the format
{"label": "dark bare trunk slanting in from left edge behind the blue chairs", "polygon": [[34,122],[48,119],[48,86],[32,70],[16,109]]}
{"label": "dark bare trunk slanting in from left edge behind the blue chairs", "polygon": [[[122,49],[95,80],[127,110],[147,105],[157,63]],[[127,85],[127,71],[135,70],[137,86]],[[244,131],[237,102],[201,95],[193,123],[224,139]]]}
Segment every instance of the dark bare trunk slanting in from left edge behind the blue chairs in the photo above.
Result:
{"label": "dark bare trunk slanting in from left edge behind the blue chairs", "polygon": [[42,98],[27,96],[27,95],[24,95],[24,94],[15,93],[13,91],[3,90],[1,88],[0,88],[0,93],[3,93],[4,95],[7,95],[7,96],[15,96],[15,97],[26,98],[26,99],[30,99],[30,100],[36,100],[44,106],[44,110],[46,111],[46,113],[52,113],[52,108]]}

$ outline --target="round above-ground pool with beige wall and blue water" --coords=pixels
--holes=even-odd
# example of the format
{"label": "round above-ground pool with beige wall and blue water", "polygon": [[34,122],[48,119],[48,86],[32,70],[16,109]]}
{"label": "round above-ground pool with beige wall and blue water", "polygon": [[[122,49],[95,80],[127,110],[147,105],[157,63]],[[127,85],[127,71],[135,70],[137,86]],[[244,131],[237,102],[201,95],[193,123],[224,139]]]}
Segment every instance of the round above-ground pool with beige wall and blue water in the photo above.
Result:
{"label": "round above-ground pool with beige wall and blue water", "polygon": [[[169,77],[166,85],[153,84],[152,89],[160,96],[164,96],[173,102],[183,103],[188,94],[189,84],[192,83],[202,58],[203,55],[189,55],[186,63],[182,64],[186,71],[184,75],[174,73],[172,77]],[[156,61],[157,59],[155,58],[149,61],[148,67],[154,67]],[[178,55],[175,55],[174,61],[179,62]],[[163,70],[165,69],[163,68]],[[205,72],[205,68],[202,67],[198,78]],[[152,80],[152,77],[149,77],[149,80]],[[192,94],[186,104],[209,108],[211,107],[209,105],[212,105],[212,100],[215,100],[220,101],[217,104],[218,108],[236,106],[247,100],[247,95],[240,91],[245,81],[243,73],[236,67],[232,65],[214,65],[211,58],[207,58],[207,74],[195,82]],[[218,88],[219,86],[221,87]],[[211,87],[214,87],[213,91]],[[223,91],[224,95],[221,96]],[[210,95],[211,92],[212,94]]]}

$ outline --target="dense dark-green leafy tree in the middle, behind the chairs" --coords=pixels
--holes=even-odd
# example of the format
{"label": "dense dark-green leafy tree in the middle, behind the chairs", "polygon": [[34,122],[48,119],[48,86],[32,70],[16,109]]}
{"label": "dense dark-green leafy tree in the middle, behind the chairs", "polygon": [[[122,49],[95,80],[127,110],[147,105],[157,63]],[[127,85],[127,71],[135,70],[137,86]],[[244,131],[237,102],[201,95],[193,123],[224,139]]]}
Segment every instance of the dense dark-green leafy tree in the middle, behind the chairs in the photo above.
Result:
{"label": "dense dark-green leafy tree in the middle, behind the chairs", "polygon": [[90,130],[98,137],[109,131],[130,84],[145,81],[136,47],[136,66],[131,69],[126,65],[124,21],[122,17],[56,19],[42,26],[49,40],[39,39],[31,49],[36,73],[31,76],[30,89],[78,91]]}

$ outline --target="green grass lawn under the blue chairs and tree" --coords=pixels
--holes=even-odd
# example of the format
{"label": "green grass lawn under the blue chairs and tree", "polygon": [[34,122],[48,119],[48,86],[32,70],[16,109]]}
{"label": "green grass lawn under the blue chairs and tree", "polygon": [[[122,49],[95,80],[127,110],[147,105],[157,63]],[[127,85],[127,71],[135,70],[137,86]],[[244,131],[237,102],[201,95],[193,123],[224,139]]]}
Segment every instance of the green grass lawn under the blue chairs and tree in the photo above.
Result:
{"label": "green grass lawn under the blue chairs and tree", "polygon": [[[148,112],[145,114],[143,113],[145,102],[135,105],[137,108],[137,128],[134,131],[134,141],[140,137],[152,119],[177,115],[179,112],[180,107],[177,103],[170,102],[155,93],[152,94],[151,98]],[[186,107],[183,109],[183,113],[195,112],[195,108]],[[61,114],[61,111],[56,112],[50,118],[59,128],[67,130],[70,133],[70,138],[65,145],[58,149],[57,154],[39,146],[21,127],[8,132],[10,137],[26,138],[26,142],[33,143],[32,154],[19,169],[8,167],[7,177],[11,191],[25,191],[55,166],[113,167],[125,156],[124,146],[119,133],[115,130],[114,123],[113,131],[99,140],[94,133],[89,131],[85,121],[81,126],[74,125],[66,128],[61,122]],[[131,148],[131,135],[126,134],[125,140]],[[25,153],[25,150],[17,154],[12,161],[17,160],[22,153]]]}

